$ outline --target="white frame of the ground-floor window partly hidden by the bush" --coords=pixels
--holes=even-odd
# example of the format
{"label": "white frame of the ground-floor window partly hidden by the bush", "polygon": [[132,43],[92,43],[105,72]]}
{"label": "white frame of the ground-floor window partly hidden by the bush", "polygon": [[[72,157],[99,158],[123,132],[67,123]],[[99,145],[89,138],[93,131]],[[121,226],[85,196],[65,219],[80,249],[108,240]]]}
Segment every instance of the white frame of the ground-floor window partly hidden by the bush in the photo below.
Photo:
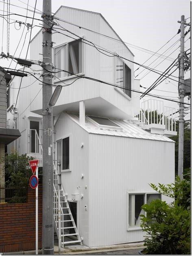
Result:
{"label": "white frame of the ground-floor window partly hidden by the bush", "polygon": [[[144,204],[147,203],[147,195],[149,194],[157,194],[160,195],[161,198],[161,194],[159,193],[155,193],[155,191],[150,191],[150,192],[127,192],[127,230],[142,230],[142,228],[140,226],[129,226],[129,195],[144,195]],[[146,216],[146,212],[144,212],[144,215]]]}

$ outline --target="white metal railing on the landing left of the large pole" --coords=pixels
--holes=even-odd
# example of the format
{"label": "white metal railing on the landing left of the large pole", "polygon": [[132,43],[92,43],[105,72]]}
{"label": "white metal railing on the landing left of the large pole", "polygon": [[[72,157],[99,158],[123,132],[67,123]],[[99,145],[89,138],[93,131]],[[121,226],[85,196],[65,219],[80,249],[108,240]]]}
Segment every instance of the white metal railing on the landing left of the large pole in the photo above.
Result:
{"label": "white metal railing on the landing left of the large pole", "polygon": [[43,148],[35,129],[25,129],[21,132],[18,143],[20,155],[27,154],[39,160],[39,166],[43,165]]}

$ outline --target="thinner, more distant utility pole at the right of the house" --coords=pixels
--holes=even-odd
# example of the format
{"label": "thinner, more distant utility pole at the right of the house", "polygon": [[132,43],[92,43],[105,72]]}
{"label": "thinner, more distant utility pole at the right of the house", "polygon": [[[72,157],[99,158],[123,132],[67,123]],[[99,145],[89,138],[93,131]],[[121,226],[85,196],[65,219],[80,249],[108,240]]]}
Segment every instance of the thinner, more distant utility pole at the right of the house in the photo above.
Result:
{"label": "thinner, more distant utility pole at the right of the house", "polygon": [[183,179],[183,131],[184,131],[184,26],[185,16],[181,16],[181,50],[179,65],[179,151],[178,151],[178,175]]}

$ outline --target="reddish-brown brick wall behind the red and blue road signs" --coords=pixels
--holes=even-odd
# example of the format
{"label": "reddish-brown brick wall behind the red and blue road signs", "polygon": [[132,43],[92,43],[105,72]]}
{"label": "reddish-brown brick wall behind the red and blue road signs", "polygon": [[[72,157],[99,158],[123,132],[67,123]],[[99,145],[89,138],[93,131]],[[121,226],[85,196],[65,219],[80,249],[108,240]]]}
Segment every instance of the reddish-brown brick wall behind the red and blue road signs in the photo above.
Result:
{"label": "reddish-brown brick wall behind the red and blue road signs", "polygon": [[[42,185],[38,189],[38,247],[41,248]],[[27,203],[0,203],[0,253],[35,249],[35,189],[28,187]]]}

